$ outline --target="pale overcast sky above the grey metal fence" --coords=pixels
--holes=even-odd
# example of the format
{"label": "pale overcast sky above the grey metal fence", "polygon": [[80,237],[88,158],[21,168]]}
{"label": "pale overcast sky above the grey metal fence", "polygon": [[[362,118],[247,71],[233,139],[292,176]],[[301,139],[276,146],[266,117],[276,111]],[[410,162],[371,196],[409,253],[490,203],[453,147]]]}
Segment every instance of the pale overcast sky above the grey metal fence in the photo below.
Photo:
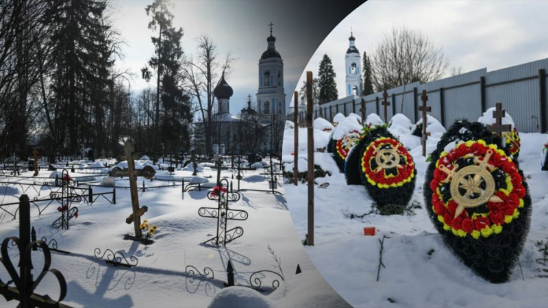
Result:
{"label": "pale overcast sky above the grey metal fence", "polygon": [[[316,75],[327,53],[337,74],[339,98],[345,97],[345,53],[351,27],[363,55],[372,52],[393,26],[423,32],[443,49],[451,66],[462,66],[463,73],[548,57],[548,1],[369,0],[325,38],[306,70]],[[302,80],[306,75],[301,75]]]}

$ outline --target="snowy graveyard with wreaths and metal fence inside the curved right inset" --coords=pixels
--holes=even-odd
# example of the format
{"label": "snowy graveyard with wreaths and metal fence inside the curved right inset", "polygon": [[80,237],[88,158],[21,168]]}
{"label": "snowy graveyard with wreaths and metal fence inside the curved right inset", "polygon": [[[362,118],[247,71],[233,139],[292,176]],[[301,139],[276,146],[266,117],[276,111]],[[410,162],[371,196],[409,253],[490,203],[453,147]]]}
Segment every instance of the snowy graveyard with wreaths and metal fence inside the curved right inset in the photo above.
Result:
{"label": "snowy graveyard with wreaths and metal fence inside the curved right inset", "polygon": [[[547,68],[366,97],[349,87],[319,105],[308,72],[285,126],[286,198],[308,255],[350,305],[545,306]],[[532,77],[508,81],[512,70]]]}

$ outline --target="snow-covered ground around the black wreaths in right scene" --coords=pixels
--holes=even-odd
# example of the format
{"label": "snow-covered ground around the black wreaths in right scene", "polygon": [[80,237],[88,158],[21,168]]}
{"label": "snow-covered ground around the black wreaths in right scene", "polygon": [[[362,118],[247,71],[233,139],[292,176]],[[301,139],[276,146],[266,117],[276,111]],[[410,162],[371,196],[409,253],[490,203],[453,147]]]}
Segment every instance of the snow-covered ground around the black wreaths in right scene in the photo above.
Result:
{"label": "snow-covered ground around the black wreaths in right scene", "polygon": [[[543,266],[536,259],[542,257],[537,242],[548,241],[548,172],[540,171],[547,135],[521,133],[519,164],[529,183],[533,207],[531,230],[520,256],[525,280],[516,266],[508,283],[495,285],[477,277],[458,261],[434,229],[422,191],[428,162],[422,156],[420,138],[408,132],[405,119],[398,121],[402,125],[395,125],[390,131],[411,149],[418,172],[411,202],[421,208],[414,209],[413,216],[369,214],[349,218],[351,214],[369,213],[373,201],[362,185],[346,185],[345,175],[338,172],[331,154],[315,153],[314,162],[332,172],[330,177],[316,179],[318,184],[327,182],[329,186],[316,185],[314,189],[315,246],[306,247],[323,277],[353,307],[546,307],[548,278],[538,277],[546,272],[541,272]],[[293,133],[292,129],[285,131],[285,162],[292,162]],[[434,131],[428,138],[429,153],[440,136]],[[299,138],[306,140],[306,134],[301,133]],[[306,159],[306,149],[299,148],[299,155],[299,160]],[[299,169],[301,165],[306,163],[299,162]],[[285,188],[301,239],[307,233],[307,189],[302,183]],[[376,235],[365,236],[364,227],[375,227]],[[387,238],[382,261],[386,268],[381,268],[377,281],[379,240],[384,236]]]}

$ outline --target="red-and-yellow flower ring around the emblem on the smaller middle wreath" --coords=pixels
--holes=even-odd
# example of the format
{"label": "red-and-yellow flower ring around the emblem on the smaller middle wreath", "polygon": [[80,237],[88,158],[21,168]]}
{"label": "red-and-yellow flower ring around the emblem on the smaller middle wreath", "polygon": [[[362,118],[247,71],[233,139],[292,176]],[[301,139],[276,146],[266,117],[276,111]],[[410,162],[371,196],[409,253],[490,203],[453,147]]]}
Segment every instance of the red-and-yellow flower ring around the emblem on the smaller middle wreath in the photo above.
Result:
{"label": "red-and-yellow flower ring around the emblem on the smaller middle wreath", "polygon": [[[395,168],[397,175],[386,174],[386,170],[382,169],[378,172],[371,170],[371,161],[375,159],[377,151],[386,144],[390,144],[393,149],[396,149],[400,157],[403,157],[406,164],[400,165],[401,168]],[[399,163],[399,162],[398,162]],[[367,146],[364,156],[362,157],[362,171],[364,172],[367,181],[372,185],[377,185],[379,188],[401,187],[404,183],[408,183],[414,177],[415,164],[413,158],[406,148],[397,140],[392,138],[379,138]]]}

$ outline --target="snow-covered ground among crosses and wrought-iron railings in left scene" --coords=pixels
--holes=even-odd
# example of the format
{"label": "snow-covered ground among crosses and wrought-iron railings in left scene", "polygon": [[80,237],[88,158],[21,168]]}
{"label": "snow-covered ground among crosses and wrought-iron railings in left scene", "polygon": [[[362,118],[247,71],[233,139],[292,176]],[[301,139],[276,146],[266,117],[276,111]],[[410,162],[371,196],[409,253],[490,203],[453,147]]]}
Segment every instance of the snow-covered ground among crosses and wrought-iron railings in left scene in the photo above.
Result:
{"label": "snow-covered ground among crosses and wrought-iron railings in left scene", "polygon": [[[205,165],[205,164],[204,164]],[[77,170],[75,170],[77,171]],[[240,182],[246,189],[268,190],[269,183],[260,175],[263,170],[248,171]],[[33,172],[24,172],[22,176],[32,177]],[[40,171],[40,177],[49,177],[51,172]],[[79,176],[74,173],[71,176]],[[86,174],[88,175],[88,174]],[[156,176],[169,178],[166,171],[158,171]],[[216,171],[204,166],[200,177],[211,177],[215,181]],[[192,177],[192,170],[177,170],[173,177]],[[232,172],[223,170],[221,177],[232,180]],[[0,181],[21,181],[32,183],[32,179],[14,179],[2,177]],[[64,275],[68,294],[63,303],[73,307],[348,307],[348,304],[329,287],[316,270],[303,249],[284,196],[266,192],[242,192],[240,201],[230,203],[231,209],[242,209],[249,213],[245,221],[228,222],[228,227],[240,226],[244,229],[241,238],[223,247],[204,246],[200,243],[216,234],[216,219],[202,218],[199,207],[216,207],[216,201],[207,198],[208,190],[182,193],[181,186],[173,188],[151,189],[154,185],[166,182],[138,179],[138,187],[145,181],[146,192],[139,192],[140,205],[147,205],[148,211],[142,219],[158,226],[153,235],[153,244],[144,246],[138,242],[123,240],[125,233],[133,233],[133,225],[126,224],[125,218],[132,213],[129,189],[116,190],[116,205],[102,198],[92,205],[77,205],[79,217],[70,222],[69,230],[51,227],[53,220],[59,217],[58,205],[50,205],[38,216],[32,205],[31,223],[38,233],[38,239],[55,239],[59,249],[71,252],[63,255],[52,252],[51,268]],[[236,180],[234,188],[236,189]],[[97,181],[99,183],[100,180]],[[279,184],[281,180],[279,180]],[[128,186],[129,182],[117,179],[116,185]],[[86,188],[86,185],[82,185]],[[0,201],[12,203],[18,201],[22,193],[16,185],[0,186]],[[279,190],[284,192],[283,185]],[[97,192],[111,192],[112,188],[93,189]],[[34,190],[27,190],[32,199]],[[40,197],[49,195],[43,188]],[[110,196],[108,196],[110,198]],[[43,207],[44,205],[40,205]],[[14,211],[15,206],[8,208]],[[1,211],[3,212],[3,211]],[[0,213],[1,214],[1,213]],[[18,219],[11,220],[6,214],[0,215],[0,238],[18,236]],[[249,278],[258,270],[279,272],[273,254],[281,259],[285,277],[273,292],[257,292],[249,288]],[[94,256],[95,248],[121,251],[129,257],[138,258],[134,268],[113,267],[105,264],[105,259]],[[10,248],[15,260],[18,253]],[[40,251],[34,252],[34,268],[41,268],[43,257]],[[223,288],[227,281],[227,262],[231,260],[234,278],[239,287]],[[295,274],[297,264],[302,273]],[[206,267],[212,268],[214,279],[194,276],[185,272],[186,266],[195,266],[200,272]],[[34,272],[35,277],[37,272]],[[57,298],[58,285],[51,274],[38,285],[36,294],[49,294]],[[9,275],[0,265],[2,281],[9,281]],[[271,285],[266,277],[263,285]],[[245,288],[244,288],[245,287]],[[242,291],[245,290],[245,291]],[[257,303],[260,303],[257,304]],[[15,307],[15,301],[6,303],[0,296],[0,307]]]}

